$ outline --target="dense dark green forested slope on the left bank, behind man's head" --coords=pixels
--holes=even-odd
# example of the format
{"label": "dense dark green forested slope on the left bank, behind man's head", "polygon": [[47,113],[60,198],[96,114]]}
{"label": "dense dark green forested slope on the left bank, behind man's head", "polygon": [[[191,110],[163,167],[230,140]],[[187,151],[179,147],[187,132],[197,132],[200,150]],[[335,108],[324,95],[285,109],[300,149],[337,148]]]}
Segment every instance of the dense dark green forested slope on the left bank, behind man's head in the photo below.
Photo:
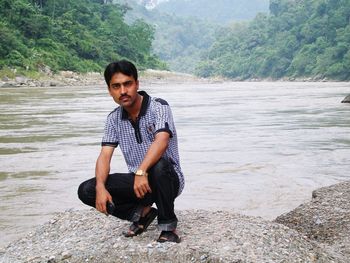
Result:
{"label": "dense dark green forested slope on the left bank, behind man's head", "polygon": [[126,11],[108,0],[0,0],[0,69],[100,71],[120,58],[165,68],[151,54],[153,27],[128,25]]}

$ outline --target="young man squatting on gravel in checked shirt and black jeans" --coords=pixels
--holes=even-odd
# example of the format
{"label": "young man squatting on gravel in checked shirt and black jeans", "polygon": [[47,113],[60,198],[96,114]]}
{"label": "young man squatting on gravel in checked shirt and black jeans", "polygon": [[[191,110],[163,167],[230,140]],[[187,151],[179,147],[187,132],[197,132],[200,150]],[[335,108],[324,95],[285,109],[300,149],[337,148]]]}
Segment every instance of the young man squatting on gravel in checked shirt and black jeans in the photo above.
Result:
{"label": "young man squatting on gravel in checked shirt and black jeans", "polygon": [[[158,216],[157,241],[178,243],[174,200],[183,190],[184,177],[170,107],[138,91],[137,69],[129,61],[109,64],[104,77],[119,107],[107,117],[95,178],[79,186],[79,198],[102,213],[131,221],[123,232],[126,237],[141,234]],[[129,173],[109,174],[118,145]]]}

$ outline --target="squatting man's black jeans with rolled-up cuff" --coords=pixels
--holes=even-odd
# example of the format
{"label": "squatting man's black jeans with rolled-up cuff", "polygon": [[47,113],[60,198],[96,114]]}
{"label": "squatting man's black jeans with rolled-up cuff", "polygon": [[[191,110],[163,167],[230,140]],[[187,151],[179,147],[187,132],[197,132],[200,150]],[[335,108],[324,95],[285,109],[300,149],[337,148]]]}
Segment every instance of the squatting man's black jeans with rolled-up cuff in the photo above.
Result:
{"label": "squatting man's black jeans with rolled-up cuff", "polygon": [[[148,182],[152,193],[147,193],[141,199],[135,195],[134,179],[133,173],[115,173],[108,176],[106,189],[116,207],[113,216],[137,222],[143,207],[155,203],[158,208],[158,229],[165,231],[176,229],[174,200],[179,190],[179,179],[173,165],[162,158],[149,169]],[[78,196],[84,204],[95,207],[96,179],[83,182],[79,186]]]}

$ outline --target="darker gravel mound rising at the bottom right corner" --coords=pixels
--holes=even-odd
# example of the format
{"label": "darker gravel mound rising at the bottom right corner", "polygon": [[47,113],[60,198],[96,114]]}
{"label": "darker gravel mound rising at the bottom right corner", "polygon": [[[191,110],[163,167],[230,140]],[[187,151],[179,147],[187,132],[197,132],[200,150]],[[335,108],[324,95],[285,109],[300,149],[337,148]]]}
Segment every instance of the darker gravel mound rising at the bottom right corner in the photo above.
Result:
{"label": "darker gravel mound rising at the bottom right corner", "polygon": [[275,222],[350,258],[350,182],[320,188],[312,200],[281,215]]}

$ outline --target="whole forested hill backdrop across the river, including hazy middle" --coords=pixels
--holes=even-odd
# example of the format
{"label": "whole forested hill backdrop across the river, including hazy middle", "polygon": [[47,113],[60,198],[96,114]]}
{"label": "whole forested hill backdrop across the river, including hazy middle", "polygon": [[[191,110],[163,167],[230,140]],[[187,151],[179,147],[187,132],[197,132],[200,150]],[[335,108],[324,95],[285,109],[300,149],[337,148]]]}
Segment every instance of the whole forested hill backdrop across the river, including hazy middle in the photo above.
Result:
{"label": "whole forested hill backdrop across the river, including hazy middle", "polygon": [[0,70],[101,71],[127,58],[201,77],[350,79],[350,1],[270,0],[266,12],[259,1],[234,6],[250,10],[242,20],[226,16],[227,0],[215,10],[199,0],[153,10],[134,0],[0,0]]}

